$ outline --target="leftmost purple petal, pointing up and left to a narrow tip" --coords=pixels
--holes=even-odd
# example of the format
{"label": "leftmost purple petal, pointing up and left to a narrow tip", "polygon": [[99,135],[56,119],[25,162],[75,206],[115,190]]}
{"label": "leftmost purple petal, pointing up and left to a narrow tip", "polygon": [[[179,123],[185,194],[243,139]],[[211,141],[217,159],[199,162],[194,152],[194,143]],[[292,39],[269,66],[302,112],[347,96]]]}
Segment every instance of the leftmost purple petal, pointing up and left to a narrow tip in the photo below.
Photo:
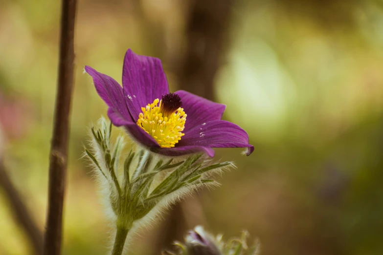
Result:
{"label": "leftmost purple petal, pointing up and left to a narrow tip", "polygon": [[[110,76],[102,74],[85,66],[85,71],[93,78],[93,83],[98,95],[109,106],[108,116],[115,126],[121,126],[122,122],[132,122],[122,87]],[[113,113],[113,114],[112,114]]]}

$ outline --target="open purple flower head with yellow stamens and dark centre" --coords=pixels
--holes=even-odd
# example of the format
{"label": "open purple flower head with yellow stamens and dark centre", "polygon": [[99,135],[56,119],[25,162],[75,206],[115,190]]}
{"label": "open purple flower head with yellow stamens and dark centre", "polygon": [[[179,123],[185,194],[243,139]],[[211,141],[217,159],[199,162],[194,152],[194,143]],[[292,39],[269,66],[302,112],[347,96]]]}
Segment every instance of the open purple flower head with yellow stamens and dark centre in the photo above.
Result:
{"label": "open purple flower head with yellow stamens and dark centre", "polygon": [[158,58],[135,54],[129,49],[122,69],[122,87],[90,66],[97,93],[109,106],[114,126],[123,126],[142,146],[165,156],[205,152],[212,148],[247,148],[248,134],[241,127],[221,120],[225,105],[184,90],[169,93]]}

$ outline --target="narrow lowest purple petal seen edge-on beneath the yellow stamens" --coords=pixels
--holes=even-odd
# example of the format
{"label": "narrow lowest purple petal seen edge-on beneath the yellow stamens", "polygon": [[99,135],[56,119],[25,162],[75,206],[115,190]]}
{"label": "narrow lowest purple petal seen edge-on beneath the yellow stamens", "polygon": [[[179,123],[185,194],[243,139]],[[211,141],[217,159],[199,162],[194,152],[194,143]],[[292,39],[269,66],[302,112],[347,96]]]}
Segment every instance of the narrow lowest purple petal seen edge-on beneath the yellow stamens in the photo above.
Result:
{"label": "narrow lowest purple petal seen edge-on beneath the yellow stamens", "polygon": [[151,148],[151,151],[169,157],[177,157],[192,153],[203,152],[209,157],[214,157],[214,149],[204,146],[177,146],[173,148]]}

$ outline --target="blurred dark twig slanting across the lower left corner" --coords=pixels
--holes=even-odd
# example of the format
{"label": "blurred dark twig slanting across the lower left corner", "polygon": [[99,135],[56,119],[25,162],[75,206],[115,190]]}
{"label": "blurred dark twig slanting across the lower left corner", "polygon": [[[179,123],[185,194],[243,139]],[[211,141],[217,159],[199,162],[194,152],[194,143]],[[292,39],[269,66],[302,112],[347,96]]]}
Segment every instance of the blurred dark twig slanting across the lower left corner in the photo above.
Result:
{"label": "blurred dark twig slanting across the lower left corner", "polygon": [[6,195],[6,198],[10,203],[13,212],[12,215],[15,217],[16,221],[23,227],[32,245],[34,253],[36,255],[41,255],[43,252],[43,234],[37,227],[37,224],[32,218],[31,214],[29,213],[28,208],[23,203],[23,199],[20,193],[12,184],[12,181],[6,172],[1,159],[0,186],[2,187],[4,194]]}

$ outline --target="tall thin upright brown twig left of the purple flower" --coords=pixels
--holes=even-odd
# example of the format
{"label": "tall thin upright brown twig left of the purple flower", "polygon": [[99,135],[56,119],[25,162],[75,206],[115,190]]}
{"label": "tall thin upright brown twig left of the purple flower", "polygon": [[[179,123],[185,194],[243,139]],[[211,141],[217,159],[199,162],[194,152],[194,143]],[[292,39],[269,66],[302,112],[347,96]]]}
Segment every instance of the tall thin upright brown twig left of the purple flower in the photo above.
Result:
{"label": "tall thin upright brown twig left of the purple flower", "polygon": [[73,38],[76,5],[77,0],[62,0],[60,57],[54,129],[49,159],[48,214],[46,218],[44,255],[61,254],[69,112],[73,87]]}

